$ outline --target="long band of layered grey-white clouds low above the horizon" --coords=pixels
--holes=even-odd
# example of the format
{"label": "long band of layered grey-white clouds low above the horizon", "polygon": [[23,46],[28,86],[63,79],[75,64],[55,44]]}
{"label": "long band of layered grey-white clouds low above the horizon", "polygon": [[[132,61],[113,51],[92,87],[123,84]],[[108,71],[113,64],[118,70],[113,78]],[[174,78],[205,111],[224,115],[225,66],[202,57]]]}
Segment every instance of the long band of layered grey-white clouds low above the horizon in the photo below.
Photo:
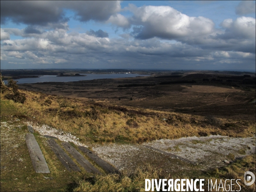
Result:
{"label": "long band of layered grey-white clouds low above the horizon", "polygon": [[[15,31],[15,30],[13,30]],[[20,30],[24,32],[24,30]],[[160,41],[159,38],[147,40],[111,39],[96,37],[87,33],[72,34],[63,29],[34,34],[36,38],[20,40],[4,40],[1,44],[2,58],[26,59],[34,64],[124,64],[123,67],[142,67],[144,62],[148,68],[158,64],[175,64],[175,62],[223,62],[228,63],[233,57],[255,59],[255,54],[243,52],[215,51],[203,49],[180,42]],[[76,55],[76,56],[74,56]],[[230,61],[231,62],[231,61]],[[118,67],[118,66],[116,66]]]}

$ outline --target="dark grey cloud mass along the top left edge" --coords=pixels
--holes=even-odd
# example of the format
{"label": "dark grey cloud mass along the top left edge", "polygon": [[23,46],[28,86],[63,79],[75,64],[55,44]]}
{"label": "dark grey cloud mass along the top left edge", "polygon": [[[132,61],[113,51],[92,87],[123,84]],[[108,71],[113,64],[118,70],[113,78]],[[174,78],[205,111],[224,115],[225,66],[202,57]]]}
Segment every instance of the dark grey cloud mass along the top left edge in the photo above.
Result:
{"label": "dark grey cloud mass along the top left edge", "polygon": [[72,9],[75,18],[83,22],[105,21],[119,12],[121,6],[119,1],[1,1],[1,23],[9,20],[41,26],[65,23],[69,19],[64,16],[63,9]]}

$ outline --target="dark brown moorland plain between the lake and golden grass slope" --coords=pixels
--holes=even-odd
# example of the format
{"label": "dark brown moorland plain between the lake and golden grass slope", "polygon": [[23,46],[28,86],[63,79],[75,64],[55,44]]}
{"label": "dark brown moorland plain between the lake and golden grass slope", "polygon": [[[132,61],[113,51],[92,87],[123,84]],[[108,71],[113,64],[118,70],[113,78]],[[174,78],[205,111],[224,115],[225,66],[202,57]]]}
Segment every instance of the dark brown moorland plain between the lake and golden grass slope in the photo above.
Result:
{"label": "dark brown moorland plain between the lake and golden grass slope", "polygon": [[[118,106],[255,120],[255,73],[155,72],[150,77],[44,82],[21,89]],[[132,99],[132,100],[131,100]]]}

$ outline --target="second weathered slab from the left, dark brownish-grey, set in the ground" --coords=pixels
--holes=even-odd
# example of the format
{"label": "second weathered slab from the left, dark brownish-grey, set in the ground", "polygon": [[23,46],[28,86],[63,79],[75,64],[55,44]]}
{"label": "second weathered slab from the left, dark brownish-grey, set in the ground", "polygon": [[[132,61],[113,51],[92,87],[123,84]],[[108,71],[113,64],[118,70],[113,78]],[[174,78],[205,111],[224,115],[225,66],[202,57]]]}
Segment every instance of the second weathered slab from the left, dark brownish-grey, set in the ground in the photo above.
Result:
{"label": "second weathered slab from the left, dark brownish-grey, set in the ground", "polygon": [[62,165],[71,172],[81,172],[79,167],[76,163],[65,153],[65,151],[55,142],[55,140],[50,139],[48,140],[49,146],[51,147],[52,151],[56,154],[58,159],[61,161]]}

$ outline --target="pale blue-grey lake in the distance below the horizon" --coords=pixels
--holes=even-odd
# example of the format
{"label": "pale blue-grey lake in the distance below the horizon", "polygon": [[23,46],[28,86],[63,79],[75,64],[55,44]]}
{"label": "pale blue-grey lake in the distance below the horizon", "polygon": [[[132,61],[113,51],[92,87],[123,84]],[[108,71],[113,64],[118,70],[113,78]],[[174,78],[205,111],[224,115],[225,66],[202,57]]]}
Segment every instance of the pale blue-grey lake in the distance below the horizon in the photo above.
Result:
{"label": "pale blue-grey lake in the distance below the horizon", "polygon": [[[149,75],[139,75],[132,73],[120,73],[120,74],[82,74],[86,76],[78,76],[78,77],[57,77],[56,75],[46,75],[40,76],[38,78],[23,78],[17,79],[17,84],[22,83],[40,83],[40,82],[71,82],[71,81],[84,81],[84,80],[92,80],[92,79],[113,79],[113,78],[129,78],[129,77],[144,77]],[[4,81],[5,84],[8,84],[8,81]]]}

